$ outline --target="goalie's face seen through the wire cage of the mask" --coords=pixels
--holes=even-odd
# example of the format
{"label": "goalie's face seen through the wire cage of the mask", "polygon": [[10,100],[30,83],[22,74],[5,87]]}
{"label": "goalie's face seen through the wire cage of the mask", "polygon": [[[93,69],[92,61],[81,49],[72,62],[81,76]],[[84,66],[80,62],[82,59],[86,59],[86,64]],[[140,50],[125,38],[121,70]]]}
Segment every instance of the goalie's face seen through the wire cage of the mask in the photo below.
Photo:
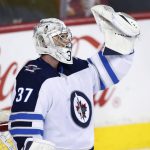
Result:
{"label": "goalie's face seen through the wire cage of the mask", "polygon": [[71,43],[71,38],[68,37],[67,33],[61,33],[59,35],[54,36],[53,41],[57,46],[66,47],[68,44]]}

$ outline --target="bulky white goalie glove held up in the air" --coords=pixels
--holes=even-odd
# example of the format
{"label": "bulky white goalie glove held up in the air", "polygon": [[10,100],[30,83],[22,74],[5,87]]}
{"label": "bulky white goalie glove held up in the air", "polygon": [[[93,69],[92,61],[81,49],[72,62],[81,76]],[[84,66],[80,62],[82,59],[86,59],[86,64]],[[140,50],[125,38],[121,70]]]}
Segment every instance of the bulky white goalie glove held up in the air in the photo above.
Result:
{"label": "bulky white goalie glove held up in the air", "polygon": [[130,54],[134,49],[134,41],[140,34],[137,22],[131,16],[115,12],[107,5],[93,6],[91,11],[104,34],[105,46],[120,54]]}

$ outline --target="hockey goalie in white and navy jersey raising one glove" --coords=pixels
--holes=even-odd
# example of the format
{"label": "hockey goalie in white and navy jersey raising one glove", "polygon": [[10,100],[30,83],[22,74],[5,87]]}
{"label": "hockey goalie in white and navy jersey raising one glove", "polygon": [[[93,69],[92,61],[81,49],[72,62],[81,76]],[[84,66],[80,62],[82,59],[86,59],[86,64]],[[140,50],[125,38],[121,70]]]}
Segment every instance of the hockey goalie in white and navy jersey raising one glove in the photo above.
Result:
{"label": "hockey goalie in white and navy jersey raising one glove", "polygon": [[94,149],[93,95],[126,75],[140,29],[132,17],[109,6],[91,11],[105,43],[87,60],[72,56],[72,33],[61,20],[42,19],[35,27],[40,57],[18,73],[9,118],[18,150]]}

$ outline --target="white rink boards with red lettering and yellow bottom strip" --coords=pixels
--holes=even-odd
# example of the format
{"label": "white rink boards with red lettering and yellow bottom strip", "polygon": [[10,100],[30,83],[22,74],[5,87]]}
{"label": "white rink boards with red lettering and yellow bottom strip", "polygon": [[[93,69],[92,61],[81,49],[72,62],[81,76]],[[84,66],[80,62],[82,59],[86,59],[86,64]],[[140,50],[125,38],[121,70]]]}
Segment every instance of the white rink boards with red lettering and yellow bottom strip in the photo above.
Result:
{"label": "white rink boards with red lettering and yellow bottom strip", "polygon": [[[96,150],[150,147],[150,20],[140,20],[139,24],[141,37],[136,41],[129,73],[118,85],[95,97]],[[70,28],[75,56],[86,59],[102,46],[103,36],[95,24]],[[36,57],[32,31],[0,34],[0,109],[11,106],[11,90],[17,72],[29,59]]]}

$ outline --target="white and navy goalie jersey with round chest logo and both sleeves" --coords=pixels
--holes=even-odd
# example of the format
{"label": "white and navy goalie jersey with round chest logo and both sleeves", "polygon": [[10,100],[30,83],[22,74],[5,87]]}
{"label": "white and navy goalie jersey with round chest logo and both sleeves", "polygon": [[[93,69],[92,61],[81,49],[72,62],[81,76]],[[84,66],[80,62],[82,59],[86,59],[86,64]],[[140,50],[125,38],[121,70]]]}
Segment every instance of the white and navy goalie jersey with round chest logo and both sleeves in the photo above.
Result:
{"label": "white and navy goalie jersey with round chest logo and both sleeves", "polygon": [[118,83],[133,57],[112,53],[74,58],[73,64],[60,63],[57,69],[38,58],[21,69],[9,123],[19,150],[28,137],[51,141],[57,150],[92,149],[93,95]]}

